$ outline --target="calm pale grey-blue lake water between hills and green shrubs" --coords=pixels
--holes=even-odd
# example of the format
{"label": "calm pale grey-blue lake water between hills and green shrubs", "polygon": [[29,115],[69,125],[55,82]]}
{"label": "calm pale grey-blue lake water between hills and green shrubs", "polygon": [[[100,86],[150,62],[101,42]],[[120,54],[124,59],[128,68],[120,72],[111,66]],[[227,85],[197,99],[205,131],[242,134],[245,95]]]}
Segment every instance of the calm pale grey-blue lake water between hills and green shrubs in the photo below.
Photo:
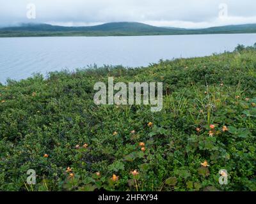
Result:
{"label": "calm pale grey-blue lake water between hills and green shrubs", "polygon": [[0,38],[0,82],[93,64],[147,66],[160,59],[211,55],[255,42],[256,34]]}

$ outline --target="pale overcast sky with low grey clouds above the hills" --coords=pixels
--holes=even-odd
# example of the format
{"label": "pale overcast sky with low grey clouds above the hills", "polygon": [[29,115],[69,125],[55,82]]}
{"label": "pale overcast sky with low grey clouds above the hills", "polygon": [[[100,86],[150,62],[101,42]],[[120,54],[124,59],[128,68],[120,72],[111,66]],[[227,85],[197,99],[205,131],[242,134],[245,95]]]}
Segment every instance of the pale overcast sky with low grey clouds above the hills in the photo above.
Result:
{"label": "pale overcast sky with low grey clouds above the hills", "polygon": [[[35,19],[27,17],[29,3],[35,4]],[[186,28],[256,23],[256,1],[0,0],[0,26],[21,22],[79,26],[124,21]]]}

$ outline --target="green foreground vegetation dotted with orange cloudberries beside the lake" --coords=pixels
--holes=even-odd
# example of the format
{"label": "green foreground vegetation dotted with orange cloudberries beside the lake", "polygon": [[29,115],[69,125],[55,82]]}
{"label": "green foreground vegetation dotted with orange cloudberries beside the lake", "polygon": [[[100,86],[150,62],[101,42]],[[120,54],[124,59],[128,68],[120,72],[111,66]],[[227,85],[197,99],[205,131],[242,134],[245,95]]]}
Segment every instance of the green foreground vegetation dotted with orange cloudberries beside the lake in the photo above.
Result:
{"label": "green foreground vegetation dotted with orange cloudberries beside the lake", "polygon": [[[163,82],[163,110],[95,105],[93,85],[108,77]],[[256,191],[255,117],[255,47],[8,80],[0,85],[0,190]]]}

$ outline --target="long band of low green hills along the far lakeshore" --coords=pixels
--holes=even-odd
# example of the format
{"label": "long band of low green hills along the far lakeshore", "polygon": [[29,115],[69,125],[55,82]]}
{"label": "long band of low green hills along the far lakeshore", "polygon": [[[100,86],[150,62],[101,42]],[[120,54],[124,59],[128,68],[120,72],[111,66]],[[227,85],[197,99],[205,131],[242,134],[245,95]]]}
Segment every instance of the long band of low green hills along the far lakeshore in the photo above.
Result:
{"label": "long band of low green hills along the far lakeshore", "polygon": [[17,36],[132,36],[132,35],[172,35],[172,34],[225,34],[256,33],[256,24],[226,25],[205,29],[184,29],[156,27],[138,22],[111,22],[108,24],[65,27],[49,24],[21,24],[0,28],[0,37]]}

